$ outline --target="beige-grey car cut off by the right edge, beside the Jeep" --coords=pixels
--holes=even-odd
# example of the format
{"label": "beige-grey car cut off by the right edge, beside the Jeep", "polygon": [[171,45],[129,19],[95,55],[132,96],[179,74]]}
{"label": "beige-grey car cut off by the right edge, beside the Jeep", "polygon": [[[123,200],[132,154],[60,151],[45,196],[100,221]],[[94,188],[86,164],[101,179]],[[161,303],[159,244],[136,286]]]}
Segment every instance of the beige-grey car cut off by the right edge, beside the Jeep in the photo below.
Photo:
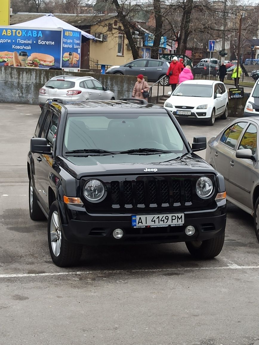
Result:
{"label": "beige-grey car cut off by the right edge, beside the Jeep", "polygon": [[227,200],[254,218],[259,241],[259,118],[232,121],[208,141],[206,160],[225,179]]}

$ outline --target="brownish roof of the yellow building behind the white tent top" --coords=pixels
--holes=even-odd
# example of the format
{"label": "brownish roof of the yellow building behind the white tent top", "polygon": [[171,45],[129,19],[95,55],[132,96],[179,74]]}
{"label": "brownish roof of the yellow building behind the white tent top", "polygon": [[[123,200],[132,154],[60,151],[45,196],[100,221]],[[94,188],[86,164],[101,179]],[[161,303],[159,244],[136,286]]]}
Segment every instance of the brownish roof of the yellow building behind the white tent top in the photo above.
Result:
{"label": "brownish roof of the yellow building behind the white tent top", "polygon": [[[33,20],[39,17],[44,16],[48,13],[22,13],[18,12],[12,14],[10,17],[10,25],[23,23],[29,20]],[[53,13],[55,17],[75,26],[75,27],[84,27],[90,26],[98,23],[101,20],[114,18],[117,16],[117,13],[111,14],[68,14],[68,13]]]}

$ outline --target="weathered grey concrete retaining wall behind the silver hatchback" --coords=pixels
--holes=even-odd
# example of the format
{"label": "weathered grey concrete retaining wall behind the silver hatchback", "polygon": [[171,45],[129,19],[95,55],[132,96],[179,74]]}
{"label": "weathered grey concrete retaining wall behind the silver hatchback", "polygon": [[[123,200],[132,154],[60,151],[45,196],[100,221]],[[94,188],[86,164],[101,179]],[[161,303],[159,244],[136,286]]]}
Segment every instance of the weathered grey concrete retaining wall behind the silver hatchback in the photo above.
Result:
{"label": "weathered grey concrete retaining wall behind the silver hatchback", "polygon": [[[39,89],[52,77],[61,75],[62,71],[0,67],[0,101],[23,104],[38,104]],[[71,76],[92,76],[102,85],[109,86],[115,98],[131,97],[136,77],[101,75],[90,72],[64,72]]]}

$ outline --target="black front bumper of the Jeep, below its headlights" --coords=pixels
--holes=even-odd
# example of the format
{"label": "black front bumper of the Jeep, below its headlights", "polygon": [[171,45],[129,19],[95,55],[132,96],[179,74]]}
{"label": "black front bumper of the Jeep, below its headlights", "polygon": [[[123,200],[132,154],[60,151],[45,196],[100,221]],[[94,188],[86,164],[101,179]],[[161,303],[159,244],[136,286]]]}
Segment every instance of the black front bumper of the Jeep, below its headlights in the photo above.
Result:
{"label": "black front bumper of the Jeep, below its headlights", "polygon": [[[132,228],[129,214],[89,215],[84,207],[59,201],[63,236],[69,242],[87,245],[174,243],[210,239],[222,234],[226,226],[226,200],[220,200],[216,205],[215,209],[185,212],[185,223],[181,226]],[[192,236],[185,234],[188,225],[196,229]],[[124,232],[121,239],[112,236],[113,230],[117,228]]]}

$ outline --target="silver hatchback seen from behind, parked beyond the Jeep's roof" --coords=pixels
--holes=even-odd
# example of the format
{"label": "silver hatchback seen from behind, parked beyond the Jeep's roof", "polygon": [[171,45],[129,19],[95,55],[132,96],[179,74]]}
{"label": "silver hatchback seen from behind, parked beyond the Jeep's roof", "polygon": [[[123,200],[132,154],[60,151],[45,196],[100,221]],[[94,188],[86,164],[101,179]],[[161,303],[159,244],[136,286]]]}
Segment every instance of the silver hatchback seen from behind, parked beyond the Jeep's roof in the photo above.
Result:
{"label": "silver hatchback seen from behind, parked beyond the Jeep's roof", "polygon": [[93,77],[70,77],[67,75],[51,78],[39,90],[39,105],[44,107],[52,99],[85,101],[115,99],[109,87],[104,87]]}

